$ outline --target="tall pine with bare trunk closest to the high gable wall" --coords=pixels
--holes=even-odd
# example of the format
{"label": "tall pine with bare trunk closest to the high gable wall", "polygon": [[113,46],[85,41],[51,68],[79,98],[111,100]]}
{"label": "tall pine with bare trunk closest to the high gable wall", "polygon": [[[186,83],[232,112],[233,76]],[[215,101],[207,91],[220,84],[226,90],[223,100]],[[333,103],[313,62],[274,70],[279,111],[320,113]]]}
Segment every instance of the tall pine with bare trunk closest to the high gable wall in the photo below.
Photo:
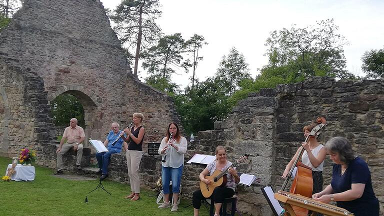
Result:
{"label": "tall pine with bare trunk closest to the high gable wall", "polygon": [[[122,0],[109,17],[116,23],[113,29],[128,50],[135,50],[133,73],[137,75],[140,52],[157,40],[161,34],[155,20],[161,15],[159,0]],[[135,47],[135,48],[134,48]]]}

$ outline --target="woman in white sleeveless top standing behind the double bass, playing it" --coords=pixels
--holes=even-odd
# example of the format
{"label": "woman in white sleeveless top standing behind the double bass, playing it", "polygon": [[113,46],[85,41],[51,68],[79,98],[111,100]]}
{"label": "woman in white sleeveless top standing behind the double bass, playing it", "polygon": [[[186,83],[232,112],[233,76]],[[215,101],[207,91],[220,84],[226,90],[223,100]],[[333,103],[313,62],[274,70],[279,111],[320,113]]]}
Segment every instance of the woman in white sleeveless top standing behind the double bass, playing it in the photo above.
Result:
{"label": "woman in white sleeveless top standing behind the double bass, playing it", "polygon": [[[316,123],[312,123],[303,127],[304,136],[307,137],[310,131],[316,126]],[[312,178],[313,178],[313,189],[312,194],[320,192],[322,190],[322,165],[326,156],[326,149],[324,145],[318,143],[316,139],[317,134],[314,136],[309,136],[307,142],[302,142],[301,146],[297,149],[296,153],[286,165],[284,173],[281,177],[287,177],[289,170],[294,165],[301,147],[304,148],[304,151],[301,154],[301,161],[303,164],[311,167],[312,169]],[[319,214],[317,214],[319,215]]]}

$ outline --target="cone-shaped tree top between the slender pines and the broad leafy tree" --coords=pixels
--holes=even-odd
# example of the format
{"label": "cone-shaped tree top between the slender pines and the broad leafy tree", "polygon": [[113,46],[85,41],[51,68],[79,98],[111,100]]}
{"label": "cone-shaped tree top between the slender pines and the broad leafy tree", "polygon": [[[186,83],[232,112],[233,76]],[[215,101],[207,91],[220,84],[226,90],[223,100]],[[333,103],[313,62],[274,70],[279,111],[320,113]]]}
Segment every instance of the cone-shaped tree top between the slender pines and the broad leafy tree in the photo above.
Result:
{"label": "cone-shaped tree top between the slender pines and the broad leafy tree", "polygon": [[223,56],[217,72],[215,73],[215,82],[225,89],[229,96],[239,87],[243,79],[250,79],[248,63],[242,53],[239,53],[235,47],[229,50],[228,56]]}

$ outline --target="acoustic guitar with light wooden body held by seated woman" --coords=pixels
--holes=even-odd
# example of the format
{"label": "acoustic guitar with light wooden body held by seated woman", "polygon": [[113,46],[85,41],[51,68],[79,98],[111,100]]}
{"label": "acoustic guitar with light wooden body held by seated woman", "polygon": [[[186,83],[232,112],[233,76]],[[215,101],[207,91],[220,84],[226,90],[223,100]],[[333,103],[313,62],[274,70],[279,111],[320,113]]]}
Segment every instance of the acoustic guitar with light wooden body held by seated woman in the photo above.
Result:
{"label": "acoustic guitar with light wooden body held by seated woman", "polygon": [[[249,154],[244,154],[240,158],[238,158],[232,165],[229,167],[234,167],[237,164],[244,162],[246,159],[248,159]],[[209,196],[212,195],[214,188],[218,186],[225,186],[226,184],[226,173],[228,172],[228,168],[224,169],[223,171],[216,169],[212,175],[206,175],[205,178],[208,180],[211,180],[212,183],[207,185],[203,181],[200,181],[200,190],[202,195],[205,198],[208,198]]]}

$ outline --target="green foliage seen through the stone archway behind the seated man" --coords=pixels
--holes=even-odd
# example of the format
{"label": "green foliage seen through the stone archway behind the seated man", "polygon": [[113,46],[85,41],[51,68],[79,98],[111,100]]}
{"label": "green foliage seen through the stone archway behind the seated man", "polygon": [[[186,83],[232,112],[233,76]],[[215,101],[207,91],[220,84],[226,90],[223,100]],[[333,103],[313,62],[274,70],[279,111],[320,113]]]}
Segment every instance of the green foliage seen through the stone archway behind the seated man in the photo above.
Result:
{"label": "green foliage seen through the stone archway behind the seated man", "polygon": [[78,99],[71,94],[60,94],[50,103],[50,113],[56,126],[68,125],[70,118],[77,118],[77,124],[85,125],[84,109]]}

